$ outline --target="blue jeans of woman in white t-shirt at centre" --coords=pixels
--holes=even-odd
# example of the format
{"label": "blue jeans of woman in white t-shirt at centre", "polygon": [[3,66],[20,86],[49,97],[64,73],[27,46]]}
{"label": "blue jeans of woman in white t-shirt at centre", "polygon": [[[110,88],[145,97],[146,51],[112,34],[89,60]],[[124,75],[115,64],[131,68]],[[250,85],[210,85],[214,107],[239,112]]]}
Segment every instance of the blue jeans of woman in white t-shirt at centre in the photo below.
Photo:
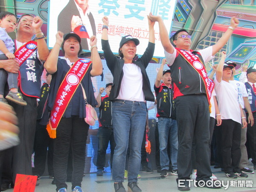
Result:
{"label": "blue jeans of woman in white t-shirt at centre", "polygon": [[113,180],[114,182],[124,180],[125,158],[129,144],[128,182],[137,182],[146,122],[146,105],[145,102],[116,99],[112,107],[112,123],[116,142],[113,156]]}

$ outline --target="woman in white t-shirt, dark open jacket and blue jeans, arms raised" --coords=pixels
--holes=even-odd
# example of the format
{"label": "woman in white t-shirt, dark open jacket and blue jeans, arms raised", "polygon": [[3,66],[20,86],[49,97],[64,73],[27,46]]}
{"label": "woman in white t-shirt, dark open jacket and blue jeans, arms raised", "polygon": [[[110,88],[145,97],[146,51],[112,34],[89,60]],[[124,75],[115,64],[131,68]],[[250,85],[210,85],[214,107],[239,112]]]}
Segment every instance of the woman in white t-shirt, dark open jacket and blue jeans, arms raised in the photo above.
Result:
{"label": "woman in white t-shirt, dark open jacket and blue jeans, arms raised", "polygon": [[113,180],[115,191],[125,192],[122,184],[125,172],[125,157],[129,145],[128,189],[141,191],[137,185],[140,171],[141,144],[146,122],[145,100],[154,102],[146,67],[154,53],[154,22],[148,19],[149,42],[144,54],[134,60],[140,41],[131,35],[122,37],[119,55],[113,55],[108,43],[108,17],[103,17],[102,50],[113,84],[109,100],[113,102],[112,124],[116,148],[113,155]]}

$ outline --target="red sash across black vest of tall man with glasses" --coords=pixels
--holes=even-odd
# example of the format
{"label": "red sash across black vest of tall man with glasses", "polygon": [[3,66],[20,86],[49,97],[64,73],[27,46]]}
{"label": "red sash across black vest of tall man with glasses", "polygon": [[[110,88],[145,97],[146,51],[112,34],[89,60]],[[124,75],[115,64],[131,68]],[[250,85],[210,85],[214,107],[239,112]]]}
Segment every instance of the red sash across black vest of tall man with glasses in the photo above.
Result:
{"label": "red sash across black vest of tall man with glasses", "polygon": [[207,99],[209,103],[209,108],[210,108],[211,107],[210,99],[211,99],[212,91],[214,88],[214,82],[208,78],[204,64],[197,56],[193,55],[192,52],[178,49],[178,48],[175,48],[175,49],[177,50],[177,52],[180,53],[180,55],[183,58],[186,59],[186,61],[188,61],[188,63],[199,73],[199,75],[203,79],[206,94],[207,94]]}

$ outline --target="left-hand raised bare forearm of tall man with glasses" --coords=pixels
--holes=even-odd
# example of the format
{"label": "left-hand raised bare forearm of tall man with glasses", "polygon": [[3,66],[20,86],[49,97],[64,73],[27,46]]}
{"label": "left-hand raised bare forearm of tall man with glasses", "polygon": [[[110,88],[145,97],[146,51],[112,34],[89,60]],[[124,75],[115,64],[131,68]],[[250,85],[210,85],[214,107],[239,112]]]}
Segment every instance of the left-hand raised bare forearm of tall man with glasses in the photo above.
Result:
{"label": "left-hand raised bare forearm of tall man with glasses", "polygon": [[148,15],[148,18],[153,22],[156,22],[156,21],[158,22],[160,39],[161,39],[163,48],[164,50],[166,50],[166,52],[169,52],[172,54],[174,52],[174,47],[170,42],[169,34],[167,32],[166,26],[163,23],[163,19],[159,15],[152,15],[152,13]]}

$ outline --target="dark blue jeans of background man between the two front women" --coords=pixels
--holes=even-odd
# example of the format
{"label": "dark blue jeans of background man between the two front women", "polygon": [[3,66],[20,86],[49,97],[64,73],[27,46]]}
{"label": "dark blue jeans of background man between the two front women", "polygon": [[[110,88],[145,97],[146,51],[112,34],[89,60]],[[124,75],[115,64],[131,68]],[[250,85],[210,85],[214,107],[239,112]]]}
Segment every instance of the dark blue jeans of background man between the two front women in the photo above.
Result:
{"label": "dark blue jeans of background man between the two front women", "polygon": [[[113,154],[116,146],[112,126],[99,127],[97,136],[99,139],[99,148],[98,148],[98,156],[97,156],[97,164],[96,164],[97,169],[100,169],[102,171],[104,170],[105,163],[106,163],[106,151],[107,151],[109,142],[110,142],[110,149],[111,149],[110,167],[112,169]],[[108,164],[106,166],[108,166]]]}

